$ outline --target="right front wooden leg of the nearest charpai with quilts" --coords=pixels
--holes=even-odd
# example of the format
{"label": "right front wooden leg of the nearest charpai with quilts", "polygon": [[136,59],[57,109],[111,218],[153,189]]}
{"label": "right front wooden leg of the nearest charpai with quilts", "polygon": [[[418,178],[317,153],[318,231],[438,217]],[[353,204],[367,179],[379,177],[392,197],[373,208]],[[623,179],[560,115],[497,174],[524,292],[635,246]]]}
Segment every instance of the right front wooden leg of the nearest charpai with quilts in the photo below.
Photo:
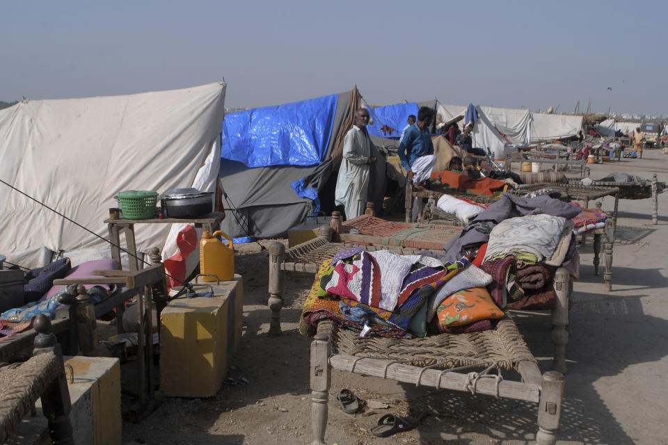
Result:
{"label": "right front wooden leg of the nearest charpai with quilts", "polygon": [[557,442],[557,428],[562,415],[564,398],[564,375],[555,371],[543,374],[541,401],[538,405],[538,432],[536,444],[554,445]]}

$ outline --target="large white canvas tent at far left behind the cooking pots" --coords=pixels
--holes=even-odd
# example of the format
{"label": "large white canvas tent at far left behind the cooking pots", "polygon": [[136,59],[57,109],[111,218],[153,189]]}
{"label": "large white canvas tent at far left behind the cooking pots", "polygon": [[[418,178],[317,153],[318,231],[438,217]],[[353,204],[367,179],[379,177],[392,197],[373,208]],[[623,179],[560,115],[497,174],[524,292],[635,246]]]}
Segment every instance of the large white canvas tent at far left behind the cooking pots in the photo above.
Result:
{"label": "large white canvas tent at far left behind the cooking pots", "polygon": [[[108,238],[103,221],[120,191],[215,190],[224,102],[225,83],[20,102],[0,111],[0,179]],[[9,261],[34,267],[49,251],[109,250],[93,234],[0,188],[0,252]],[[174,254],[168,232],[169,225],[137,226],[138,250],[168,245],[164,256]]]}

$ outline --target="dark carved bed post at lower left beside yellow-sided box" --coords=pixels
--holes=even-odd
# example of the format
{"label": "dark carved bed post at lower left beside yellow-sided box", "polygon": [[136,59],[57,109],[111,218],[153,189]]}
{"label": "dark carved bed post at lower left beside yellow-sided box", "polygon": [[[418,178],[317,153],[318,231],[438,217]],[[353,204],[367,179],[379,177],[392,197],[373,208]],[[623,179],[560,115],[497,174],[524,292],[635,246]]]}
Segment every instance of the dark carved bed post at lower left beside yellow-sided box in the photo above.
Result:
{"label": "dark carved bed post at lower left beside yellow-sided box", "polygon": [[51,441],[56,445],[74,445],[72,423],[70,422],[70,390],[65,380],[65,366],[61,346],[56,336],[50,332],[51,320],[44,314],[35,318],[35,350],[33,355],[53,353],[58,361],[58,377],[56,377],[42,394],[42,412],[49,421]]}

